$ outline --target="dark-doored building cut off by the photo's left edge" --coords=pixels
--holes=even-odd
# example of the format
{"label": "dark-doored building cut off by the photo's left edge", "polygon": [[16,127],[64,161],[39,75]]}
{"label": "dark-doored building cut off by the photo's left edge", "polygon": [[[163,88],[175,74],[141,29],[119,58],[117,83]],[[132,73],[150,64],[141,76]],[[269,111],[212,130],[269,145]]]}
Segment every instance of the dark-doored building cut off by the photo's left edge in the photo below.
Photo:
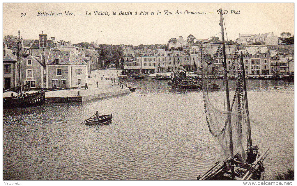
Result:
{"label": "dark-doored building cut off by the photo's left edge", "polygon": [[3,89],[15,87],[15,74],[17,73],[17,56],[12,54],[12,50],[7,49],[7,44],[3,44]]}

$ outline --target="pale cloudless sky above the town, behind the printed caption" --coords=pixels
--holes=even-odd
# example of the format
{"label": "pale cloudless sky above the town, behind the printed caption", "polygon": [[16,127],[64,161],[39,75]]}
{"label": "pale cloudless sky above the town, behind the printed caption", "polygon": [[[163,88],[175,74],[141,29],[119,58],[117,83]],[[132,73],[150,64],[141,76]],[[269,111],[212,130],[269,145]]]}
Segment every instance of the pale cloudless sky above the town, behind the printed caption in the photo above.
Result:
{"label": "pale cloudless sky above the town, behind the printed caption", "polygon": [[[49,38],[72,43],[167,44],[170,38],[187,39],[189,34],[207,39],[219,33],[220,8],[228,11],[224,15],[228,39],[235,40],[239,34],[294,34],[293,3],[3,3],[3,37],[17,36],[20,29],[23,39],[38,39],[44,31]],[[237,14],[231,14],[232,10]],[[56,15],[38,16],[38,12],[51,11]],[[72,15],[57,15],[65,11]],[[109,15],[95,15],[95,11]],[[119,15],[120,11],[132,15]]]}

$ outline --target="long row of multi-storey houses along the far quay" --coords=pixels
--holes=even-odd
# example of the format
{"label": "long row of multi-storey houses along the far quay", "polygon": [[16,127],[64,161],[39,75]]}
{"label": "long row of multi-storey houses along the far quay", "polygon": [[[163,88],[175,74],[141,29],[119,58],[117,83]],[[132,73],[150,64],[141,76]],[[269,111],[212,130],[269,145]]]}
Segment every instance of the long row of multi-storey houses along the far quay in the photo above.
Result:
{"label": "long row of multi-storey houses along the far quay", "polygon": [[[205,56],[208,61],[213,61],[211,71],[213,74],[222,74],[222,57],[218,56],[217,44],[203,44]],[[200,46],[184,48],[184,51],[150,50],[144,53],[128,53],[129,57],[122,62],[122,73],[150,74],[154,72],[170,72],[170,67],[183,66],[187,71],[197,71],[201,74]],[[292,47],[290,46],[292,49]],[[131,51],[133,52],[133,51]],[[235,47],[226,49],[227,69],[230,74],[236,74],[237,67],[232,63],[232,58],[238,50]],[[294,74],[294,60],[292,51],[284,48],[273,47],[244,47],[240,46],[239,52],[243,52],[246,74]],[[127,53],[127,51],[126,51]]]}

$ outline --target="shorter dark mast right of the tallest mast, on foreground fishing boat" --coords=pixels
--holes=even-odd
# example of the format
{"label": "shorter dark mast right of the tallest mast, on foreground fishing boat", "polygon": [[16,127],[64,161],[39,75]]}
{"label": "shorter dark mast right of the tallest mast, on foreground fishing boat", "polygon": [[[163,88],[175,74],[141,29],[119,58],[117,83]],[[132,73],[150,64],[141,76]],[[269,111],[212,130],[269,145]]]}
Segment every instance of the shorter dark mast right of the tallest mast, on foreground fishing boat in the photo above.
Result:
{"label": "shorter dark mast right of the tallest mast, on foreground fishing boat", "polygon": [[248,144],[247,150],[248,150],[248,152],[252,153],[253,152],[252,133],[251,133],[251,124],[249,121],[249,104],[247,101],[247,84],[246,84],[246,79],[245,79],[245,69],[244,69],[242,51],[240,52],[240,63],[241,63],[242,71],[243,71],[244,99],[245,99],[245,107],[246,107],[246,112],[247,112],[247,144]]}

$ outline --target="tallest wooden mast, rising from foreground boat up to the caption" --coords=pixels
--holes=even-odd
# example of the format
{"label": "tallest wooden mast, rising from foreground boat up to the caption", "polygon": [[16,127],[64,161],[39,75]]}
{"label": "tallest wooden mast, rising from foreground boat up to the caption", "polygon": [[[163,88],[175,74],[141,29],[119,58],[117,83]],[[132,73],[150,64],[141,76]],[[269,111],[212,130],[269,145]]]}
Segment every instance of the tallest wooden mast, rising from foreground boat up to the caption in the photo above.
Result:
{"label": "tallest wooden mast, rising from foreground boat up to the caption", "polygon": [[[224,58],[224,66],[227,70],[227,61],[226,61],[226,50],[225,50],[225,36],[224,36],[224,23],[223,23],[223,10],[219,9],[220,12],[220,22],[222,32],[222,49],[223,49],[223,58]],[[229,97],[229,85],[228,85],[228,74],[225,73],[225,85],[226,85],[226,99],[227,99],[227,112],[228,112],[228,128],[229,128],[229,144],[230,144],[230,163],[231,163],[231,176],[235,179],[235,171],[234,171],[234,155],[233,155],[233,138],[232,138],[232,125],[231,125],[231,109],[230,109],[230,97]]]}

